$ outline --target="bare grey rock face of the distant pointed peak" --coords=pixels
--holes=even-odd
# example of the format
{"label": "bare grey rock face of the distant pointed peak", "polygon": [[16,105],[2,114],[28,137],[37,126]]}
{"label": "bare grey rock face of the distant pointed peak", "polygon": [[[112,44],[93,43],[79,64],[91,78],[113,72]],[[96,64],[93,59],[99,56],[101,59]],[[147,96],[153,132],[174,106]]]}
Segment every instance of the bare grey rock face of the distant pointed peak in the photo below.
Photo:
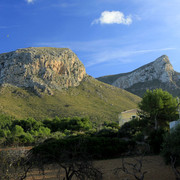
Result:
{"label": "bare grey rock face of the distant pointed peak", "polygon": [[174,75],[173,67],[169,58],[165,55],[159,57],[154,62],[147,64],[125,76],[119,77],[112,85],[126,89],[136,83],[143,83],[155,79],[163,83],[172,81]]}

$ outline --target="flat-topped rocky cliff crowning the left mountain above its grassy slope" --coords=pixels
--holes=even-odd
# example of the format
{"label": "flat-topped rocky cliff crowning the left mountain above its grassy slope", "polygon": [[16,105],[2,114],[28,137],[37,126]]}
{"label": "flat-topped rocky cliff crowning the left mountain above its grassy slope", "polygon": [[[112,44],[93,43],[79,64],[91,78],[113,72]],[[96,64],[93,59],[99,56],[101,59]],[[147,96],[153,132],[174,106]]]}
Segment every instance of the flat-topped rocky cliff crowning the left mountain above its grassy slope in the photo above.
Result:
{"label": "flat-topped rocky cliff crowning the left mountain above its grassy slope", "polygon": [[84,65],[68,48],[31,47],[0,54],[0,84],[51,89],[78,86],[86,76]]}

